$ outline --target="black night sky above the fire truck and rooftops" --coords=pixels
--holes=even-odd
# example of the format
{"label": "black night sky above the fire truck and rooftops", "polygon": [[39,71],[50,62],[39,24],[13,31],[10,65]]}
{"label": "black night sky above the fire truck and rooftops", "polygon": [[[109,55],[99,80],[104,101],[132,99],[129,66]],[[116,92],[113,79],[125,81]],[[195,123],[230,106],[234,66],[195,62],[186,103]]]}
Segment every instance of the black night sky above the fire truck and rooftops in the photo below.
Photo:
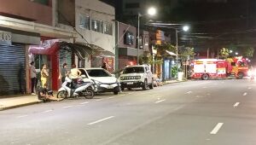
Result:
{"label": "black night sky above the fire truck and rooftops", "polygon": [[[107,0],[120,9],[121,0]],[[138,0],[139,1],[139,0]],[[182,43],[198,47],[255,46],[256,0],[160,0],[158,20],[164,23],[189,24]],[[119,17],[121,13],[117,13]],[[121,15],[125,22],[125,17]],[[128,18],[126,21],[131,21]],[[133,19],[134,20],[134,19]],[[135,19],[136,20],[136,19]],[[136,21],[134,21],[136,26]]]}

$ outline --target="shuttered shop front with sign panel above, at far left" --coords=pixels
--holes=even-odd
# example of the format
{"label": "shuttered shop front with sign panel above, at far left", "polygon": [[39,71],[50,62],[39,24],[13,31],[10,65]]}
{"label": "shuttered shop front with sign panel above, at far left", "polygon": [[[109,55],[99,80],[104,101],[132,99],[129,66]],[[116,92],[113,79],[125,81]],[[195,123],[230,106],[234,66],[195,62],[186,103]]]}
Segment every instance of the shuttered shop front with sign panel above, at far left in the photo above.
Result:
{"label": "shuttered shop front with sign panel above, at far left", "polygon": [[26,93],[26,44],[39,44],[39,34],[0,28],[0,96]]}

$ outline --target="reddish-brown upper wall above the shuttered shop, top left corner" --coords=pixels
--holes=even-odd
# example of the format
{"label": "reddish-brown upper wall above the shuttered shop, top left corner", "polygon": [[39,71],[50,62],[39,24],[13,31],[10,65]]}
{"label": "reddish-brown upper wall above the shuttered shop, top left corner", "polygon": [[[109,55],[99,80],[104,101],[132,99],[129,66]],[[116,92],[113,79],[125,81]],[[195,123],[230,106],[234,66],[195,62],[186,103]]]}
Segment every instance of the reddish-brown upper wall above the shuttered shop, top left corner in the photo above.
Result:
{"label": "reddish-brown upper wall above the shuttered shop, top left corner", "polygon": [[44,5],[28,0],[0,0],[0,15],[52,26],[51,2]]}

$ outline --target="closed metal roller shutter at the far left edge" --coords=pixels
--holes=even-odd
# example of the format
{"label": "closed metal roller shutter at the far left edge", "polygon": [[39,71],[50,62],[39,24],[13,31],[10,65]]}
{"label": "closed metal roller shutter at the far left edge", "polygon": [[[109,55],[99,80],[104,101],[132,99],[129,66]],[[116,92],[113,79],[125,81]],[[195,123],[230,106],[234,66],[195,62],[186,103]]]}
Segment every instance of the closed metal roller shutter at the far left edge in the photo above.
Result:
{"label": "closed metal roller shutter at the far left edge", "polygon": [[24,45],[0,45],[0,96],[26,92]]}

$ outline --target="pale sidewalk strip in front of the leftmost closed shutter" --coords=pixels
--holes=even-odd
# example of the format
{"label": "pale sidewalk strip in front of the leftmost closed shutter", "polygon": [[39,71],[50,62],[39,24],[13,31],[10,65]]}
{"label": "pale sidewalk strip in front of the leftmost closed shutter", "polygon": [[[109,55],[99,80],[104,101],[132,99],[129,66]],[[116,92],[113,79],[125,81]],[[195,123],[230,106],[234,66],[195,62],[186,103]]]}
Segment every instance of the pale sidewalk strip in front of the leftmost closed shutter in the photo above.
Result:
{"label": "pale sidewalk strip in front of the leftmost closed shutter", "polygon": [[7,98],[0,98],[0,111],[9,108],[23,107],[38,102],[42,102],[38,100],[38,96],[9,96]]}

